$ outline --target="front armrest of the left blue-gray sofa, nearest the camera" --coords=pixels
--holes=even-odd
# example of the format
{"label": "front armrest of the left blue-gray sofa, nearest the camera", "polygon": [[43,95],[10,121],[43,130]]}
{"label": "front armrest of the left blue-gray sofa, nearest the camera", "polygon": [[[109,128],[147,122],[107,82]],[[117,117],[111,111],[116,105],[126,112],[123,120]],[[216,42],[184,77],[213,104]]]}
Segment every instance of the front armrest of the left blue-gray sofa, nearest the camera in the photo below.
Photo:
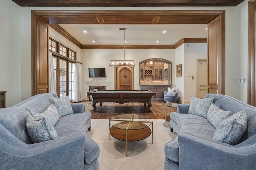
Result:
{"label": "front armrest of the left blue-gray sofa, nearest the camera", "polygon": [[0,169],[84,169],[84,134],[13,146],[0,140]]}

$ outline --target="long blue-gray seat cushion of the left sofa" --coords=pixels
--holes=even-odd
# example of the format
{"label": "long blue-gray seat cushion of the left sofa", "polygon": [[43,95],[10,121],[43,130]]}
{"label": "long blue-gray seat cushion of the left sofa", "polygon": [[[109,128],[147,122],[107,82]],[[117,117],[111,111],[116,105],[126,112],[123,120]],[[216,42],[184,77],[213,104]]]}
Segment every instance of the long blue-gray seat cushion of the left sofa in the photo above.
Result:
{"label": "long blue-gray seat cushion of the left sofa", "polygon": [[86,164],[90,164],[100,155],[98,145],[86,133],[88,125],[90,126],[90,117],[90,112],[70,114],[60,117],[54,126],[58,137],[65,137],[74,133],[84,134],[84,161]]}

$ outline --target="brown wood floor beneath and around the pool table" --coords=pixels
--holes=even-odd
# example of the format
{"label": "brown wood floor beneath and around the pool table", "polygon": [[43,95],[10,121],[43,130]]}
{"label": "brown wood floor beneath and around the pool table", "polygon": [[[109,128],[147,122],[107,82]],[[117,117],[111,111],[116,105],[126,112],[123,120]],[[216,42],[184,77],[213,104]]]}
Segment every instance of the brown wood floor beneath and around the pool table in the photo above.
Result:
{"label": "brown wood floor beneath and around the pool table", "polygon": [[[164,102],[151,102],[152,106],[150,107],[151,111],[147,110],[143,103],[125,103],[118,104],[112,102],[103,103],[100,106],[100,103],[96,104],[96,111],[92,111],[92,101],[83,101],[88,104],[85,107],[85,111],[90,111],[92,113],[92,119],[110,119],[116,115],[121,114],[140,114],[149,117],[150,119],[165,119],[165,106]],[[172,112],[176,112],[176,108],[171,108]],[[167,119],[170,120],[170,108],[167,109]]]}

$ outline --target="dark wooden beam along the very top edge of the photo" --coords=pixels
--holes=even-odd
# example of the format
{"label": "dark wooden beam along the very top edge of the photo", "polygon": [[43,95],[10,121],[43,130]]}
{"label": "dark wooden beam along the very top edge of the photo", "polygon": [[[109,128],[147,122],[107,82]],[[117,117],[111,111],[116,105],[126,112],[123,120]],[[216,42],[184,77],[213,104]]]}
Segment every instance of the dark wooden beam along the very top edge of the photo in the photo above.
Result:
{"label": "dark wooden beam along the very top edge of the photo", "polygon": [[19,6],[237,6],[244,0],[12,0]]}

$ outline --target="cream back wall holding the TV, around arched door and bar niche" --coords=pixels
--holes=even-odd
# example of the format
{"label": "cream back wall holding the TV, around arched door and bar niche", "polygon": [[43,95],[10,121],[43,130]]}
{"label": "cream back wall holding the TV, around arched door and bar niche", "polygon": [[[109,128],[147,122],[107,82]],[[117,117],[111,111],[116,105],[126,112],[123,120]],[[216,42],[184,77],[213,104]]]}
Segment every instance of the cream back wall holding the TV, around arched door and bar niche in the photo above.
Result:
{"label": "cream back wall holding the TV, around arched door and bar niche", "polygon": [[[121,53],[121,59],[123,55]],[[149,58],[162,58],[172,62],[172,67],[175,65],[175,50],[174,49],[126,49],[125,58],[128,60],[134,60],[134,90],[139,90],[139,63]],[[89,91],[88,86],[105,86],[107,90],[114,89],[114,67],[110,67],[110,60],[119,59],[119,49],[82,49],[82,70],[83,70],[83,98],[86,98],[86,92]],[[88,68],[106,68],[106,78],[89,78]],[[172,72],[173,81],[175,84],[174,76],[175,72]]]}

